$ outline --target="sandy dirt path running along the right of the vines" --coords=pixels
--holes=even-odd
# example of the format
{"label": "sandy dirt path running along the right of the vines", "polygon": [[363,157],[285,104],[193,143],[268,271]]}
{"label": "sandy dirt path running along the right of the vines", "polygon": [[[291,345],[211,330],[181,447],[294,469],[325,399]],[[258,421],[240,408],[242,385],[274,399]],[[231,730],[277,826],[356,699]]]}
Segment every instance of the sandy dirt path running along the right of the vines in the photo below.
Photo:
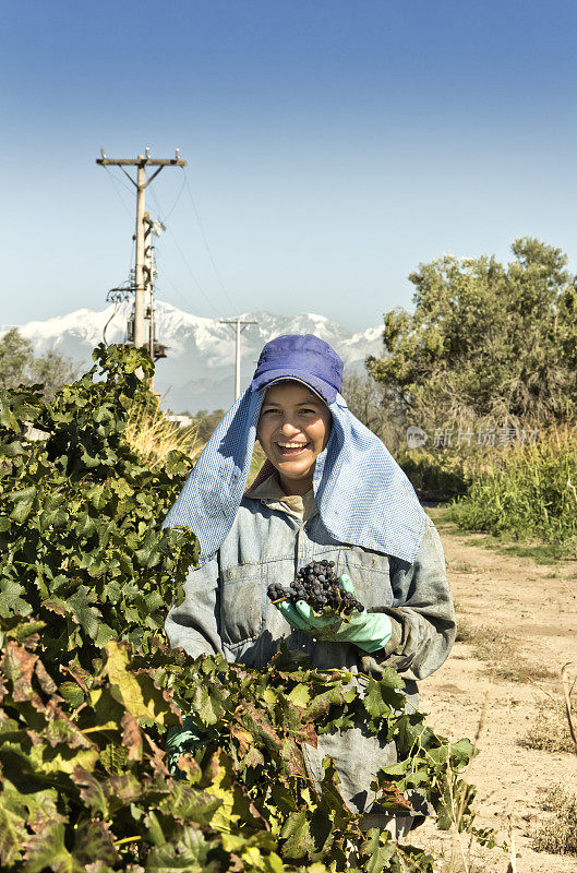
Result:
{"label": "sandy dirt path running along the right of the vines", "polygon": [[[467,777],[478,787],[476,823],[495,828],[502,842],[510,816],[518,873],[575,873],[576,856],[533,851],[531,832],[548,822],[540,805],[544,789],[564,784],[577,792],[577,755],[528,749],[520,741],[540,705],[554,713],[546,692],[561,702],[562,666],[573,660],[577,671],[577,561],[539,565],[498,554],[479,545],[481,537],[444,528],[437,511],[430,514],[443,539],[459,635],[467,642],[456,643],[443,668],[420,683],[421,708],[440,733],[472,739],[486,695],[480,754]],[[563,732],[561,716],[557,723]],[[434,828],[417,833],[418,845],[448,852],[450,841],[440,840]],[[502,850],[477,848],[471,873],[505,873],[507,863]]]}

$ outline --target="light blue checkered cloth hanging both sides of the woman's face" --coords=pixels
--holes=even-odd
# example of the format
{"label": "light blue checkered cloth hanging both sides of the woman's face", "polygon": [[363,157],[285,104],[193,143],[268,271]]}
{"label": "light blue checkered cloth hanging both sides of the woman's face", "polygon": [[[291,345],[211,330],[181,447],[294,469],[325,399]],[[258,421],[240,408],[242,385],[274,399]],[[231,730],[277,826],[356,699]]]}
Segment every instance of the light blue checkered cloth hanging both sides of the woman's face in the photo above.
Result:
{"label": "light blue checkered cloth hanging both sides of the woman's face", "polygon": [[[216,554],[232,527],[247,488],[264,394],[248,388],[228,410],[163,525],[182,525],[197,536],[199,566]],[[313,477],[324,526],[339,542],[413,563],[425,515],[411,483],[340,394],[328,408],[333,427]]]}

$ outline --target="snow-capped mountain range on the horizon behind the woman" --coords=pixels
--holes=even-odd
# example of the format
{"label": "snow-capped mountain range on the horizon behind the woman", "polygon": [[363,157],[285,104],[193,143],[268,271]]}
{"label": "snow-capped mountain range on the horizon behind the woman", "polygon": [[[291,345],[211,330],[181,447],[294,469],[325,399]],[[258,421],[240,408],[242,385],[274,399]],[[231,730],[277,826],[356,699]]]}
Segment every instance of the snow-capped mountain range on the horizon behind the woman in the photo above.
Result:
{"label": "snow-capped mountain range on the horizon behind the woman", "polygon": [[[103,340],[125,340],[129,304],[116,313],[110,306],[100,312],[79,309],[68,315],[46,321],[31,321],[19,326],[37,354],[53,348],[82,366],[92,363],[93,348]],[[251,312],[241,316],[257,321],[248,326],[241,339],[241,388],[254,371],[265,343],[280,334],[315,334],[329,343],[347,368],[359,369],[368,355],[381,355],[382,327],[350,333],[341,325],[313,313],[296,318],[271,312]],[[9,327],[0,327],[3,334]],[[157,342],[168,346],[168,357],[156,366],[155,388],[163,395],[163,406],[175,412],[228,408],[235,399],[235,333],[217,319],[192,315],[170,303],[156,302]]]}

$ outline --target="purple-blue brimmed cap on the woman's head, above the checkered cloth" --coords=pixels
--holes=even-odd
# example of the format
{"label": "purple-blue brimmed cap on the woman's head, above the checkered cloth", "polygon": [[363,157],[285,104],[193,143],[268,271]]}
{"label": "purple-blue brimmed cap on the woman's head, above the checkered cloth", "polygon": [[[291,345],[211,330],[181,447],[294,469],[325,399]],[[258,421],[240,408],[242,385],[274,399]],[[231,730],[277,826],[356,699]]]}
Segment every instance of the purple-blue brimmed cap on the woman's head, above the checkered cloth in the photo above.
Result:
{"label": "purple-blue brimmed cap on the woman's head, above the checkered cloth", "polygon": [[335,349],[314,334],[276,336],[261,351],[251,383],[262,391],[273,382],[303,382],[328,405],[342,387],[342,361]]}

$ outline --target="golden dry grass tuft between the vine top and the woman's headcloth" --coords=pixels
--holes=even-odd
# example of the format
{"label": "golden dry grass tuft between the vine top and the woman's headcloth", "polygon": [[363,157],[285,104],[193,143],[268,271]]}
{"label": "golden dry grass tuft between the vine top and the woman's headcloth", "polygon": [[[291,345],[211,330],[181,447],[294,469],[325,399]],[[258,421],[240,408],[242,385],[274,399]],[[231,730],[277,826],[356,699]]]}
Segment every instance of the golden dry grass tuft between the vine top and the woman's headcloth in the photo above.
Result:
{"label": "golden dry grass tuft between the vine top and the woman's headcloth", "polygon": [[153,469],[166,464],[169,452],[183,452],[195,461],[203,449],[193,428],[179,428],[160,409],[136,405],[130,411],[124,438]]}

